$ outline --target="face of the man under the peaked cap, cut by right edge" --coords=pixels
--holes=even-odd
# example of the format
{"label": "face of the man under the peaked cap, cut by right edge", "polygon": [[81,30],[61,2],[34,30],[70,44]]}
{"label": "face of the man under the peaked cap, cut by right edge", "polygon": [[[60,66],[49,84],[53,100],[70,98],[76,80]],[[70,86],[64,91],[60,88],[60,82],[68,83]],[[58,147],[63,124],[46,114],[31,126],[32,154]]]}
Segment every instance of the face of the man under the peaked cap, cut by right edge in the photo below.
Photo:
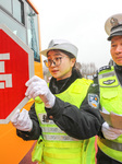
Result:
{"label": "face of the man under the peaked cap, cut by right edge", "polygon": [[122,36],[113,36],[111,38],[111,56],[113,61],[122,66]]}

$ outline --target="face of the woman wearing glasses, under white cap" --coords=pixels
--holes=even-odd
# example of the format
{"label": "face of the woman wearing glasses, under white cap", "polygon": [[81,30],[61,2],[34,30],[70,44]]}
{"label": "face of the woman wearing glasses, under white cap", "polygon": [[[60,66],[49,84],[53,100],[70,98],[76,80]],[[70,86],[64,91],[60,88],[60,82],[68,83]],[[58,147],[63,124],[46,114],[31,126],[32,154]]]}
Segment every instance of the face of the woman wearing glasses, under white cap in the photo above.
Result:
{"label": "face of the woman wearing glasses, under white cap", "polygon": [[71,77],[72,68],[75,63],[75,58],[70,59],[60,50],[50,50],[47,58],[49,65],[51,63],[49,67],[49,71],[53,78],[56,78],[57,80],[62,80]]}

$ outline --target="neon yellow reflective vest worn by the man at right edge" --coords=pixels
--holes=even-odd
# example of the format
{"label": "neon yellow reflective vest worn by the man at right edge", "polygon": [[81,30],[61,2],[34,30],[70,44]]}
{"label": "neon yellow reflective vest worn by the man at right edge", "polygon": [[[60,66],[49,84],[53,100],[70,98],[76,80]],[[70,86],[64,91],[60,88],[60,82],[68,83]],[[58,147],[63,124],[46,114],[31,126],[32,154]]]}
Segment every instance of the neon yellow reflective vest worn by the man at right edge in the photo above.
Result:
{"label": "neon yellow reflective vest worn by the man at right edge", "polygon": [[[100,86],[100,104],[106,110],[122,115],[122,86],[120,85],[114,68],[103,70],[98,75]],[[122,162],[122,134],[115,140],[98,138],[100,150],[119,162]]]}

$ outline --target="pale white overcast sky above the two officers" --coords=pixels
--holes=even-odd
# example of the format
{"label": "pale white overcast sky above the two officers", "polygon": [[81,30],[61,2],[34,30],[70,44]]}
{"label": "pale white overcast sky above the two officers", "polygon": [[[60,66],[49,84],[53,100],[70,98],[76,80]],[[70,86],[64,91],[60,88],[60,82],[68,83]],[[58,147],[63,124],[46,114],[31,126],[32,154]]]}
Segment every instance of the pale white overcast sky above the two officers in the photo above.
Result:
{"label": "pale white overcast sky above the two officers", "polygon": [[41,49],[51,39],[66,39],[78,48],[77,62],[97,68],[111,59],[105,22],[122,13],[122,0],[30,0],[39,12]]}

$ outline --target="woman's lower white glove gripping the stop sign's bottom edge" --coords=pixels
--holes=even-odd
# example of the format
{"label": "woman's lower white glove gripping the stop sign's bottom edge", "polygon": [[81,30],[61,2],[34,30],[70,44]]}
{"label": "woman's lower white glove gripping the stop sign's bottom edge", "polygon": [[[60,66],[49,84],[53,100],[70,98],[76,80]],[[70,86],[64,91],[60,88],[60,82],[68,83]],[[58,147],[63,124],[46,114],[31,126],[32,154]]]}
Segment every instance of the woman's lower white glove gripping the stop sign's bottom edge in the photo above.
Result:
{"label": "woman's lower white glove gripping the stop sign's bottom edge", "polygon": [[33,128],[33,121],[26,109],[23,109],[22,112],[17,109],[11,118],[11,122],[16,129],[22,131],[30,131]]}

